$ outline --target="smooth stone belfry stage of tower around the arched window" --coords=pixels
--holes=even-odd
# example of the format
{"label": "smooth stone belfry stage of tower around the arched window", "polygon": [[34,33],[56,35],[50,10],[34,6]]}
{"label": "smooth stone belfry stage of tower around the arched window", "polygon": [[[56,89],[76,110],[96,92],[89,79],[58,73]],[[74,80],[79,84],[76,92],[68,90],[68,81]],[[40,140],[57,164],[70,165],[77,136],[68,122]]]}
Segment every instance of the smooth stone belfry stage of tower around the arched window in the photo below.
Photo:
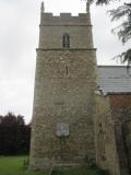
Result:
{"label": "smooth stone belfry stage of tower around the arched window", "polygon": [[93,48],[91,40],[92,27],[87,26],[40,26],[39,47],[41,48],[62,48],[62,36],[69,34],[71,48]]}

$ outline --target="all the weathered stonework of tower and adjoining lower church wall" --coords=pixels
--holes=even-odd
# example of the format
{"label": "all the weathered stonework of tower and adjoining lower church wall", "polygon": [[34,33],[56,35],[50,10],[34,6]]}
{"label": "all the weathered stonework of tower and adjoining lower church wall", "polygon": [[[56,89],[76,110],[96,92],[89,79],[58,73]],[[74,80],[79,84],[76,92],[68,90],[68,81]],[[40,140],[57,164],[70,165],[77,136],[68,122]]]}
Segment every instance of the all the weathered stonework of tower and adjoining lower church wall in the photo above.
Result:
{"label": "all the weathered stonework of tower and adjoining lower church wall", "polygon": [[[66,34],[69,47],[63,46]],[[95,51],[90,13],[41,12],[31,168],[90,162],[109,175],[130,174],[131,94],[96,91]]]}

